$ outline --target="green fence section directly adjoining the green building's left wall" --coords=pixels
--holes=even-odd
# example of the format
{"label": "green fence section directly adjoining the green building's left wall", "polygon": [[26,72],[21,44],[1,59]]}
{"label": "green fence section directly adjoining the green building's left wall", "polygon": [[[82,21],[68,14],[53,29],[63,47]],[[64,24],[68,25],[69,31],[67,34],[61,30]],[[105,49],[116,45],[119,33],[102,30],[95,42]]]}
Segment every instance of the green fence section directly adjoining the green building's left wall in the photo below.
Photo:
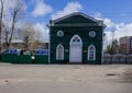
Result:
{"label": "green fence section directly adjoining the green building's left wall", "polygon": [[47,55],[35,55],[35,63],[47,65],[48,56]]}

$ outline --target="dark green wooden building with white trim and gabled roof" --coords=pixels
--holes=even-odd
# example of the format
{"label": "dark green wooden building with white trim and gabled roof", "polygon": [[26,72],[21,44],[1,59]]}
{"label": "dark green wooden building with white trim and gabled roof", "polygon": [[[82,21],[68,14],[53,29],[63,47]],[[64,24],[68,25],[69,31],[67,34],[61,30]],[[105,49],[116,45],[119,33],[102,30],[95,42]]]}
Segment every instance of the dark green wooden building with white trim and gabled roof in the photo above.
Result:
{"label": "dark green wooden building with white trim and gabled roof", "polygon": [[75,12],[50,21],[50,63],[102,62],[102,21]]}

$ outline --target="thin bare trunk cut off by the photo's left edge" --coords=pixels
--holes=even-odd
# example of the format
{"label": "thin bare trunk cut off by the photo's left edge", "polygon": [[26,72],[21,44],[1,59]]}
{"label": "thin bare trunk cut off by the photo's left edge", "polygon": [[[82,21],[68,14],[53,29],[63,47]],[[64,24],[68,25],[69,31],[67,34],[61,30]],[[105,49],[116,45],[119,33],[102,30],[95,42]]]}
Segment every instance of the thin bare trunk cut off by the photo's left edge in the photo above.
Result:
{"label": "thin bare trunk cut off by the photo's left edge", "polygon": [[1,53],[1,48],[2,48],[2,39],[1,39],[1,34],[2,34],[2,16],[3,16],[3,0],[0,0],[0,4],[1,4],[1,11],[0,11],[0,53]]}

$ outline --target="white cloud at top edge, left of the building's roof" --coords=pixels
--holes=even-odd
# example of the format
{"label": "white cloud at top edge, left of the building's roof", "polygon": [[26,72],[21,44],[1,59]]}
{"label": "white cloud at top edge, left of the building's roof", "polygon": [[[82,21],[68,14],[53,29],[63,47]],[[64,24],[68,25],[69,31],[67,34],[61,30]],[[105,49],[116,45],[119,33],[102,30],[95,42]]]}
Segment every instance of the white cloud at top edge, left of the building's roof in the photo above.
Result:
{"label": "white cloud at top edge, left of the building's roof", "polygon": [[32,15],[34,18],[37,16],[44,16],[47,13],[51,13],[53,11],[53,8],[48,4],[46,4],[43,0],[36,0],[36,7],[32,12]]}

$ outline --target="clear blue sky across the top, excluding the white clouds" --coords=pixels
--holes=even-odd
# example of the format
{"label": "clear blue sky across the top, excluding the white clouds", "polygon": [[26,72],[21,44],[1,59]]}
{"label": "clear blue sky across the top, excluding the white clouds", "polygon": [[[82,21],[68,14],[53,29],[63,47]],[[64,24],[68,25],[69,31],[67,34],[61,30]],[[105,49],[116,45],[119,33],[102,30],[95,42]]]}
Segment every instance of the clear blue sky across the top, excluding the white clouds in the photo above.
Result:
{"label": "clear blue sky across the top, excluding the white clouds", "polygon": [[[35,5],[35,3],[30,3],[33,0],[25,0],[28,4],[28,13],[31,13]],[[36,1],[36,0],[34,0]],[[40,18],[32,18],[32,20],[36,21],[45,21],[48,22],[51,19],[51,14],[55,13],[59,10],[63,10],[68,2],[78,2],[81,4],[82,9],[80,12],[84,12],[89,15],[94,15],[96,13],[100,13],[103,18],[109,18],[113,22],[124,22],[130,23],[132,22],[132,0],[37,0],[42,1],[45,4],[48,4],[53,8],[51,13],[47,13]]]}

